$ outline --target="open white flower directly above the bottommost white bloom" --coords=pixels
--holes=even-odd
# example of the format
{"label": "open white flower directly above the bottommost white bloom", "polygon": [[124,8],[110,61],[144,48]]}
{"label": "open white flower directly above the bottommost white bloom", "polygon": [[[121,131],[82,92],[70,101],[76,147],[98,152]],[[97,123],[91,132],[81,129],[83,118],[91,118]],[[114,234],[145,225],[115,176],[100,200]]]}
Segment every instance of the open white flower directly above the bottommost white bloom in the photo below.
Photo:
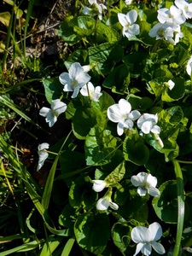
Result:
{"label": "open white flower directly above the bottommost white bloom", "polygon": [[133,186],[138,187],[137,193],[141,196],[146,195],[147,191],[149,195],[158,196],[160,190],[156,189],[157,178],[146,172],[139,172],[137,175],[131,177],[131,183]]}

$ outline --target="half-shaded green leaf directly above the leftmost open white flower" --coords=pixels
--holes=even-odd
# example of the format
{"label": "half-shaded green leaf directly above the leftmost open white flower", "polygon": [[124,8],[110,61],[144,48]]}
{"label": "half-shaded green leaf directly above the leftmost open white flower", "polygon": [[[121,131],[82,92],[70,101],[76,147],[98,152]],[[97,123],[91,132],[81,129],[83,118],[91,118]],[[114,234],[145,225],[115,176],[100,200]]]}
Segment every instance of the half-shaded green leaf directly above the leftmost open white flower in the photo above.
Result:
{"label": "half-shaded green leaf directly above the leftmost open white flower", "polygon": [[45,96],[49,104],[51,104],[53,100],[60,99],[63,92],[63,85],[58,78],[43,79],[43,84]]}

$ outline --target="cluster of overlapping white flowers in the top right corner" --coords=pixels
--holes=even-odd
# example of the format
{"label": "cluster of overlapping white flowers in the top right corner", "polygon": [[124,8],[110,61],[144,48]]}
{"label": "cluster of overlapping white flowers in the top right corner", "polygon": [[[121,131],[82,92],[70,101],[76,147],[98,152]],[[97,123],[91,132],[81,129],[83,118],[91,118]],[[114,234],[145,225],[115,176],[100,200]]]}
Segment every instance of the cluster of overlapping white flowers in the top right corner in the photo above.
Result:
{"label": "cluster of overlapping white flowers in the top right corner", "polygon": [[158,10],[157,19],[159,23],[154,25],[149,32],[152,38],[165,38],[171,44],[177,44],[183,38],[181,26],[186,19],[192,18],[192,3],[185,0],[176,0],[175,5],[170,9],[161,8]]}

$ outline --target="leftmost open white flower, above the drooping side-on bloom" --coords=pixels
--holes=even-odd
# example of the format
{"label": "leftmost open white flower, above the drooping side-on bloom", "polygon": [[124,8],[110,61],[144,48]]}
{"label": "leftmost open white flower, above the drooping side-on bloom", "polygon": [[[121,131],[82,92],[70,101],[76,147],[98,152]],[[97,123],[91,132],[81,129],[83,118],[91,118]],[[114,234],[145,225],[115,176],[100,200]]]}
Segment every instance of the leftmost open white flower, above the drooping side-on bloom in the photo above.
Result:
{"label": "leftmost open white flower, above the drooping side-on bloom", "polygon": [[67,104],[64,102],[61,102],[60,99],[53,100],[50,108],[41,108],[39,111],[39,114],[45,117],[45,121],[49,123],[49,127],[52,127],[56,120],[57,117],[65,112],[67,109]]}

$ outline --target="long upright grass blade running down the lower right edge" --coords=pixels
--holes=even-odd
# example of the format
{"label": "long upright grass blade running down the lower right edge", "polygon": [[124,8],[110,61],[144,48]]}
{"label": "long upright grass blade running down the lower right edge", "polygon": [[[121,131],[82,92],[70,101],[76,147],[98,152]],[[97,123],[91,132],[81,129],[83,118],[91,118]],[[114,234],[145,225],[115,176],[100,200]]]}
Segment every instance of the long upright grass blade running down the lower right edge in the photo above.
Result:
{"label": "long upright grass blade running down the lower right edge", "polygon": [[180,244],[183,233],[183,222],[184,222],[184,185],[183,185],[183,174],[179,163],[173,161],[173,166],[175,169],[175,174],[177,178],[177,205],[178,205],[178,215],[177,215],[177,236],[176,244],[172,256],[178,256],[180,250]]}

